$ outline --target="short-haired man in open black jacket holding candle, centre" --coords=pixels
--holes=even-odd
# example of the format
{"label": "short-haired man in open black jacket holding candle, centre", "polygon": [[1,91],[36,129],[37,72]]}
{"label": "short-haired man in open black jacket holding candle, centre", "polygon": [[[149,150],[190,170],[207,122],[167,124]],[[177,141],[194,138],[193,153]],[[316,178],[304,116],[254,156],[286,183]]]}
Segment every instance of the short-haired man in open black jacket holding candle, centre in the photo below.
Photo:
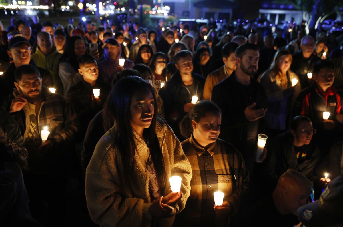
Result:
{"label": "short-haired man in open black jacket holding candle, centre", "polygon": [[170,80],[159,90],[165,116],[177,138],[184,138],[180,134],[179,123],[194,106],[192,96],[202,99],[205,78],[193,72],[192,53],[181,50],[174,56],[177,71]]}

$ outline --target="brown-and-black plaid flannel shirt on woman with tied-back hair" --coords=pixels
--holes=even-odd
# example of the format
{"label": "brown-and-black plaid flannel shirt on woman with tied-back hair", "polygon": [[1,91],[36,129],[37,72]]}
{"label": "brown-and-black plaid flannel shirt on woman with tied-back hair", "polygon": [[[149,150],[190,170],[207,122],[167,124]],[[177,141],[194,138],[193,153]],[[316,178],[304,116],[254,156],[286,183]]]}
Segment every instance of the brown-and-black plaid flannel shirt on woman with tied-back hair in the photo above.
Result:
{"label": "brown-and-black plaid flannel shirt on woman with tied-back hair", "polygon": [[177,226],[213,226],[216,191],[224,193],[224,201],[230,202],[236,213],[249,183],[242,155],[220,139],[204,148],[191,135],[181,145],[193,176],[186,207],[176,216]]}

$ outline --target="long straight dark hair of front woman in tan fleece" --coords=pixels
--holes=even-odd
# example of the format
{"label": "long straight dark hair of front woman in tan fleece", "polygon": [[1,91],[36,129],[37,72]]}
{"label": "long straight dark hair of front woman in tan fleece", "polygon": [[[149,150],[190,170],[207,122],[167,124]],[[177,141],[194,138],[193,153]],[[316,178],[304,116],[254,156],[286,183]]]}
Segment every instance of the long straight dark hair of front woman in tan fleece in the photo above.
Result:
{"label": "long straight dark hair of front woman in tan fleece", "polygon": [[105,101],[103,116],[104,119],[112,118],[116,120],[117,135],[113,135],[116,136],[115,144],[113,146],[118,147],[118,151],[122,157],[124,166],[123,175],[125,176],[123,176],[123,184],[129,188],[133,188],[134,182],[129,176],[132,176],[132,173],[134,172],[133,162],[137,147],[130,123],[130,105],[133,94],[142,88],[149,88],[155,100],[155,111],[152,122],[149,128],[144,129],[143,137],[150,149],[151,158],[154,163],[156,177],[160,188],[164,191],[164,188],[166,187],[167,174],[164,168],[162,150],[159,146],[155,132],[158,108],[153,87],[139,76],[128,76],[120,79],[109,94],[111,98],[108,98]]}

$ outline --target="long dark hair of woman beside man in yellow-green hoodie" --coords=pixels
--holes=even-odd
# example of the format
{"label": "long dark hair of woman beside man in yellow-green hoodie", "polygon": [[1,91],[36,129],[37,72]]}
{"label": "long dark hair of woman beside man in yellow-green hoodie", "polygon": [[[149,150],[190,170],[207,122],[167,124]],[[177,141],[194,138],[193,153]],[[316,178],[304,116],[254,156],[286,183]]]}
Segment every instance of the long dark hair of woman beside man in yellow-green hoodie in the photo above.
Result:
{"label": "long dark hair of woman beside man in yellow-green hoodie", "polygon": [[74,68],[74,70],[77,72],[79,69],[79,62],[78,57],[75,55],[75,41],[78,39],[84,39],[81,36],[74,35],[71,37],[68,37],[66,40],[66,44],[64,45],[64,52],[60,58],[60,62],[68,62],[71,64],[71,66]]}

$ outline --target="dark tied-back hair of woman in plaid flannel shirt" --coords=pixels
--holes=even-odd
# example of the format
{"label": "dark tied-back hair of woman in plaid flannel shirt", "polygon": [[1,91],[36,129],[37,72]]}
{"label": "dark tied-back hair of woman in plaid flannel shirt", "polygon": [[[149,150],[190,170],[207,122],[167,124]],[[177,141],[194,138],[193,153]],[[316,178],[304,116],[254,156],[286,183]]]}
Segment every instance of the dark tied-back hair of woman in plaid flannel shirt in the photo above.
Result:
{"label": "dark tied-back hair of woman in plaid flannel shirt", "polygon": [[190,138],[193,133],[192,121],[197,123],[200,122],[200,119],[205,117],[207,112],[212,113],[220,113],[222,115],[222,111],[220,108],[209,100],[202,100],[195,104],[192,109],[186,114],[186,116],[181,120],[179,127],[181,135],[184,138]]}

